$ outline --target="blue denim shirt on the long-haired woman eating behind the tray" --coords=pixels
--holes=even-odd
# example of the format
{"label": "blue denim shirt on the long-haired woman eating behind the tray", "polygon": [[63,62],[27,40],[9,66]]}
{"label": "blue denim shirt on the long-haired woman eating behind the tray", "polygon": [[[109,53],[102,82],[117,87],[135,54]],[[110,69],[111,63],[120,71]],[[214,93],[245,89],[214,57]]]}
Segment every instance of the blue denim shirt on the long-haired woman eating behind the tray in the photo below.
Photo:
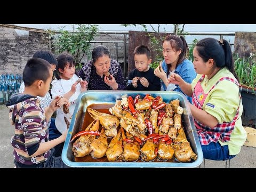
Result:
{"label": "blue denim shirt on the long-haired woman eating behind the tray", "polygon": [[[162,68],[165,71],[165,73],[167,74],[167,65],[165,60],[162,63]],[[179,76],[181,76],[181,78],[187,82],[187,83],[192,83],[193,79],[196,78],[196,71],[194,69],[194,65],[191,61],[189,61],[188,59],[185,59],[182,61],[182,63],[180,63],[177,68],[174,71],[175,74],[178,74]],[[161,81],[161,90],[162,91],[178,91],[181,92],[181,89],[179,87],[179,85],[174,85],[174,84],[169,84],[168,87],[165,86],[165,84],[163,83],[163,81]],[[184,94],[184,93],[183,93]],[[192,98],[188,97],[186,95],[186,97],[188,98],[188,101],[190,103],[192,103]]]}

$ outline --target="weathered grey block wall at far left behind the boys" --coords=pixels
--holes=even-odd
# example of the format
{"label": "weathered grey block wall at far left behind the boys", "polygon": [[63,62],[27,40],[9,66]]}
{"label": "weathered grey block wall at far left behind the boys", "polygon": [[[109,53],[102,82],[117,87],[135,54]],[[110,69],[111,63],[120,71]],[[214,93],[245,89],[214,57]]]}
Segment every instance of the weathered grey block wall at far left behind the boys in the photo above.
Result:
{"label": "weathered grey block wall at far left behind the boys", "polygon": [[0,27],[0,74],[22,74],[28,59],[43,49],[49,50],[45,34],[18,36],[14,29]]}

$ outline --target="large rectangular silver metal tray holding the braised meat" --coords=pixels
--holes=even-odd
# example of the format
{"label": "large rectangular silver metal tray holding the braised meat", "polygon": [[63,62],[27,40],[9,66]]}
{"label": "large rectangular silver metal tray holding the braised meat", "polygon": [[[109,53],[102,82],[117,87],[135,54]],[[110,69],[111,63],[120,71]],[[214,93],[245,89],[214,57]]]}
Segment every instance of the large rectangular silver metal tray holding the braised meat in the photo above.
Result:
{"label": "large rectangular silver metal tray holding the braised meat", "polygon": [[[161,96],[164,102],[170,102],[174,99],[180,100],[180,106],[183,107],[182,123],[191,148],[197,154],[196,161],[191,160],[188,163],[179,162],[75,162],[72,151],[71,138],[81,131],[87,106],[93,103],[115,103],[116,99],[131,95],[133,98],[140,94],[141,97],[149,93],[153,97]],[[169,91],[87,91],[81,93],[77,99],[73,118],[69,126],[67,138],[62,150],[62,161],[71,167],[196,167],[203,162],[203,152],[196,133],[195,124],[188,107],[188,100],[182,93]]]}

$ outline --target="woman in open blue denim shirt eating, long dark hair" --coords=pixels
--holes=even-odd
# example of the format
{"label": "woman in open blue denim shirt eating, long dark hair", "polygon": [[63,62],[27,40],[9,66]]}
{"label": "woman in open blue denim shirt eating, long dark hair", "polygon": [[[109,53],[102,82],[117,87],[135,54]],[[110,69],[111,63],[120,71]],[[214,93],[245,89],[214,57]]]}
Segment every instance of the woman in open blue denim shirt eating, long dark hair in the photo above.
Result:
{"label": "woman in open blue denim shirt eating, long dark hair", "polygon": [[[178,91],[183,93],[179,85],[169,83],[168,77],[172,73],[180,75],[187,83],[192,83],[193,79],[196,78],[194,65],[187,59],[188,52],[188,44],[184,37],[179,35],[168,35],[165,37],[163,42],[164,61],[154,71],[154,74],[161,78],[162,91]],[[192,103],[192,98],[188,96],[187,98]]]}

